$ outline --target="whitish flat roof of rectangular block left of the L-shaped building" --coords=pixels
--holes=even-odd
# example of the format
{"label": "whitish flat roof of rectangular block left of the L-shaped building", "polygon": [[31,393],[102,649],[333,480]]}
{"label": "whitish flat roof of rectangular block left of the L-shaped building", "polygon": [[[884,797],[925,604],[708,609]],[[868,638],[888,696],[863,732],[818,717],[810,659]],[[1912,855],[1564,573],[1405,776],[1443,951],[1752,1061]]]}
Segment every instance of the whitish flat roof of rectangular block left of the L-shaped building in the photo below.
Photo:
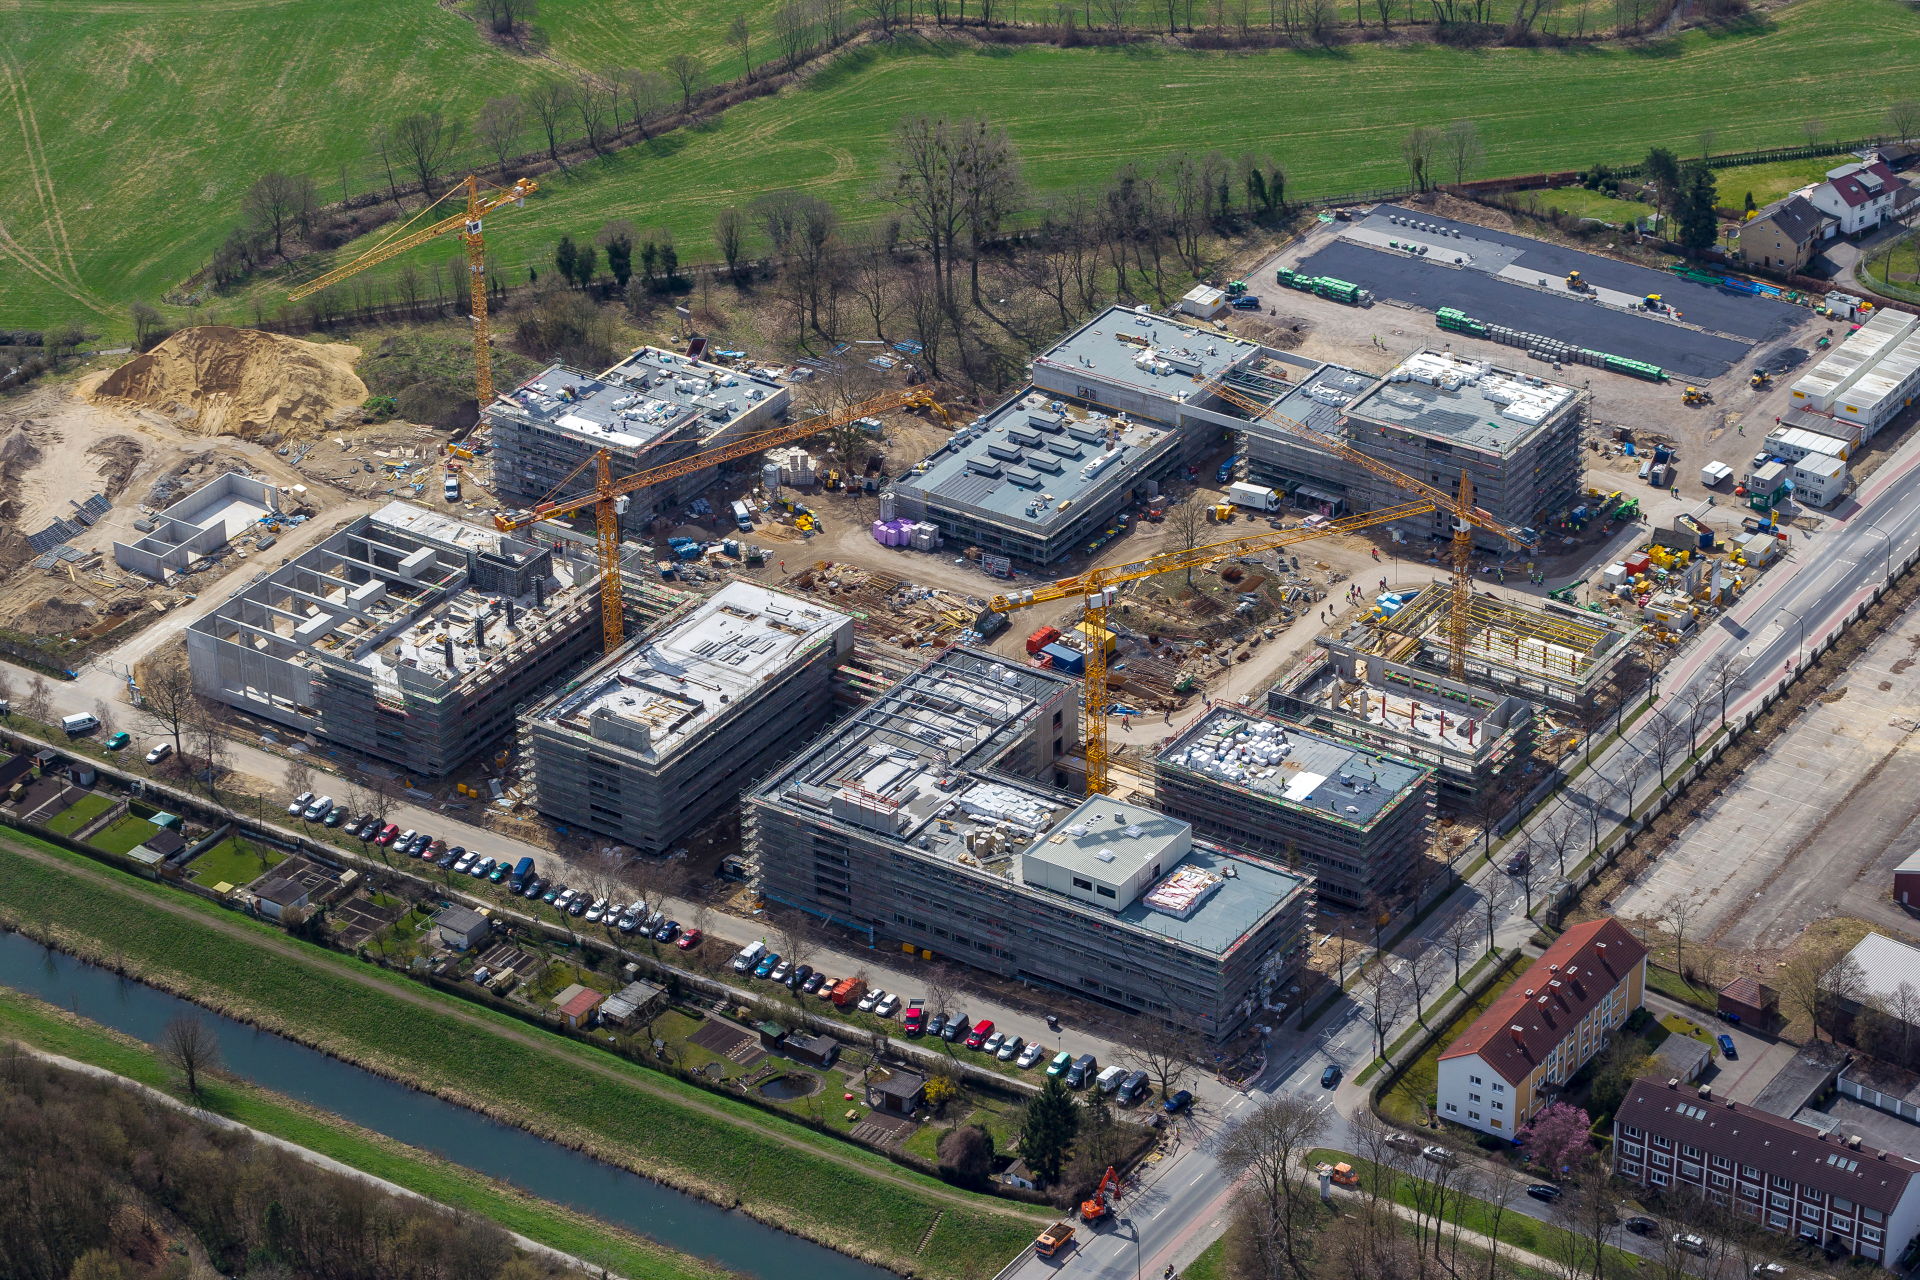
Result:
{"label": "whitish flat roof of rectangular block left of the L-shaped building", "polygon": [[664,758],[753,702],[820,645],[851,647],[852,618],[733,581],[630,641],[528,718],[591,737],[601,737],[595,723],[611,720],[630,731],[620,745]]}

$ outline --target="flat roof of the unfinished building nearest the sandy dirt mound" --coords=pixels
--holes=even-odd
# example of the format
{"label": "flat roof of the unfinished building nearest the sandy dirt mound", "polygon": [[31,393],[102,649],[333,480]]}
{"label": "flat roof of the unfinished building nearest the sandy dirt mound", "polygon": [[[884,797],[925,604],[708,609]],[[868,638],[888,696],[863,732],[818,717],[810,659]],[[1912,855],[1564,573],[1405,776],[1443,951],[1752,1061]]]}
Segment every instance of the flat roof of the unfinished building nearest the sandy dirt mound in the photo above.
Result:
{"label": "flat roof of the unfinished building nearest the sandy dirt mound", "polygon": [[[639,347],[603,374],[549,365],[501,395],[513,413],[609,449],[643,449],[687,426],[699,436],[787,390],[770,378]],[[703,426],[705,424],[705,426]]]}

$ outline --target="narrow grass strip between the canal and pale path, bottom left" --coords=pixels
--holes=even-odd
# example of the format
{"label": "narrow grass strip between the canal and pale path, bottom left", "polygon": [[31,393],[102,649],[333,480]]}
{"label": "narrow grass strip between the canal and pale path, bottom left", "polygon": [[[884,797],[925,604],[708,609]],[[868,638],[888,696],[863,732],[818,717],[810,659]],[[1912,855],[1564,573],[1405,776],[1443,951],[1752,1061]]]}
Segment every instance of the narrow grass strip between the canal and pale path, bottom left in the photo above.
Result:
{"label": "narrow grass strip between the canal and pale path, bottom left", "polygon": [[[8,988],[0,988],[0,1038],[19,1040],[173,1092],[173,1073],[148,1046]],[[194,1103],[428,1199],[486,1217],[511,1232],[607,1267],[628,1280],[695,1280],[718,1270],[710,1263],[674,1253],[651,1240],[526,1196],[470,1169],[449,1165],[438,1155],[242,1080],[211,1079]]]}

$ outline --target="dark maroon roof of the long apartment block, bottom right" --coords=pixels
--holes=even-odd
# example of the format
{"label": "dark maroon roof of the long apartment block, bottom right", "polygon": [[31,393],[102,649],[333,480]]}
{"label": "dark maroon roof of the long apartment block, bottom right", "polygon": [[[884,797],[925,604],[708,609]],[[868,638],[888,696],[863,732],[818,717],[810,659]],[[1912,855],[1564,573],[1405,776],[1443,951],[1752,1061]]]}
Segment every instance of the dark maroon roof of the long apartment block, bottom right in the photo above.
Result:
{"label": "dark maroon roof of the long apartment block, bottom right", "polygon": [[[1684,1109],[1682,1109],[1684,1107]],[[1920,1163],[1868,1146],[1847,1146],[1811,1125],[1786,1121],[1747,1105],[1701,1098],[1697,1090],[1668,1088],[1665,1080],[1634,1080],[1615,1113],[1615,1126],[1630,1125],[1665,1134],[1709,1155],[1724,1155],[1761,1173],[1855,1199],[1868,1209],[1893,1213]],[[1615,1148],[1619,1150],[1619,1148]]]}

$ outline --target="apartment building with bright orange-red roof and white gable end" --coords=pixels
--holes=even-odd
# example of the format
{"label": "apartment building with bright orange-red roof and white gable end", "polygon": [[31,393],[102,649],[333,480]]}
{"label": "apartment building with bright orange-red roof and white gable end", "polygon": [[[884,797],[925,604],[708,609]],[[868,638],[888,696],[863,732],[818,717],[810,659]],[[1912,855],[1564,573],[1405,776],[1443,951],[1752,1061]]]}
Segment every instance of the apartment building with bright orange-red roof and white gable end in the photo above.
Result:
{"label": "apartment building with bright orange-red roof and white gable end", "polygon": [[1548,946],[1440,1054],[1440,1119],[1515,1138],[1640,1007],[1647,948],[1609,917]]}

